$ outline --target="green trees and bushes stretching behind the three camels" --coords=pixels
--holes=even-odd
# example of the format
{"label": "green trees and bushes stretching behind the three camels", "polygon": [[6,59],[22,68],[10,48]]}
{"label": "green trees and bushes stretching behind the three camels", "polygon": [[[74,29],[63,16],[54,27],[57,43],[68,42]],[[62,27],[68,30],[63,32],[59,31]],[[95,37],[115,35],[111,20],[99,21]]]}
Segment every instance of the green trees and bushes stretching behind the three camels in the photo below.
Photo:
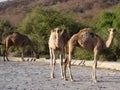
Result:
{"label": "green trees and bushes stretching behind the three camels", "polygon": [[[22,23],[16,28],[10,23],[9,20],[0,21],[0,34],[3,36],[18,31],[26,34],[34,42],[38,52],[41,55],[48,55],[48,38],[50,30],[55,27],[61,27],[67,29],[72,36],[84,27],[91,27],[99,34],[103,39],[108,38],[107,29],[114,27],[117,29],[117,35],[114,40],[112,48],[101,51],[100,58],[104,60],[117,60],[120,58],[120,5],[118,5],[113,11],[103,11],[96,19],[97,21],[87,21],[88,23],[79,23],[74,20],[69,13],[62,13],[61,10],[52,8],[36,7],[32,9],[31,13],[26,15]],[[71,14],[71,12],[70,12]],[[82,22],[82,21],[81,21]],[[92,23],[89,24],[89,23]],[[19,52],[18,52],[19,53]],[[29,52],[28,52],[29,53]],[[93,53],[86,52],[78,49],[74,55],[76,59],[93,59]]]}

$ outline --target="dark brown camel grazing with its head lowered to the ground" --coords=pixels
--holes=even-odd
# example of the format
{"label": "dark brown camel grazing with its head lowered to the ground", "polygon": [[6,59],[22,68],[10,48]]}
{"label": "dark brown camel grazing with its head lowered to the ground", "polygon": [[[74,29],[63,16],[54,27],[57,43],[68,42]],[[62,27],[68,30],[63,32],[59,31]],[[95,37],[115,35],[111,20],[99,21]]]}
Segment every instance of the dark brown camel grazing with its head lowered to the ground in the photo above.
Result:
{"label": "dark brown camel grazing with its head lowered to the ground", "polygon": [[31,40],[27,36],[25,36],[23,34],[20,34],[18,32],[14,32],[13,34],[8,35],[4,40],[4,44],[5,44],[4,51],[3,51],[3,60],[4,61],[6,61],[6,60],[9,61],[9,59],[8,59],[8,49],[11,46],[21,47],[22,48],[21,59],[23,61],[25,61],[25,59],[24,59],[24,50],[25,50],[26,46],[30,46],[30,48],[33,51],[35,57],[39,58],[39,55],[35,51],[33,43],[31,42]]}

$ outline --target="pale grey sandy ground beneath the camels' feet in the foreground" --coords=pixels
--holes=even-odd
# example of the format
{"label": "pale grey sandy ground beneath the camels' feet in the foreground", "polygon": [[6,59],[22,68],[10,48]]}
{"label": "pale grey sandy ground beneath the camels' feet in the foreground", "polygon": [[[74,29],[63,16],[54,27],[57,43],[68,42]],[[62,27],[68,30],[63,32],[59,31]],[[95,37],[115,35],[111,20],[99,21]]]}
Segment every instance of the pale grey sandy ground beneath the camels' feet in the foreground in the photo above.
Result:
{"label": "pale grey sandy ground beneath the camels' feet in the foreground", "polygon": [[61,79],[58,64],[51,79],[49,63],[0,61],[0,90],[120,90],[120,71],[97,69],[97,84],[90,67],[72,66],[72,73],[75,82]]}

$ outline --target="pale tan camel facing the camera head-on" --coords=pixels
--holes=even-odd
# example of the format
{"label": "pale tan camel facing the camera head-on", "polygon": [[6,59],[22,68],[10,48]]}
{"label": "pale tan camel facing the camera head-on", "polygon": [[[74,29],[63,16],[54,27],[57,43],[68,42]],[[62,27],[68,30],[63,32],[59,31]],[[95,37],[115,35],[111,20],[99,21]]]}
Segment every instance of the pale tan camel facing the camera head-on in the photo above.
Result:
{"label": "pale tan camel facing the camera head-on", "polygon": [[66,51],[67,41],[69,35],[66,30],[61,28],[55,28],[51,30],[48,45],[50,52],[50,67],[51,67],[51,78],[54,78],[54,69],[56,64],[56,51],[60,53],[60,69],[61,77],[63,78],[63,54]]}

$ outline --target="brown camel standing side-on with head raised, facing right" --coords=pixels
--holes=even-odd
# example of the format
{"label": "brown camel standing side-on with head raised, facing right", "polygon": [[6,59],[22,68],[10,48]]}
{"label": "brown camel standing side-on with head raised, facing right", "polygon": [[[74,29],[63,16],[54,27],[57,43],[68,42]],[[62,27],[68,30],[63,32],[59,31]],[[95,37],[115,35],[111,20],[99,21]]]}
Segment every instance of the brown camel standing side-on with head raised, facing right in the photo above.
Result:
{"label": "brown camel standing side-on with head raised, facing right", "polygon": [[115,31],[116,30],[114,28],[109,29],[110,34],[107,41],[104,41],[100,36],[92,32],[90,28],[85,28],[83,30],[80,30],[77,34],[74,34],[68,42],[69,54],[67,55],[64,63],[64,80],[66,80],[66,67],[68,64],[70,79],[73,81],[71,73],[71,59],[75,51],[75,47],[78,46],[80,48],[94,52],[93,81],[97,82],[96,68],[99,51],[111,46]]}

